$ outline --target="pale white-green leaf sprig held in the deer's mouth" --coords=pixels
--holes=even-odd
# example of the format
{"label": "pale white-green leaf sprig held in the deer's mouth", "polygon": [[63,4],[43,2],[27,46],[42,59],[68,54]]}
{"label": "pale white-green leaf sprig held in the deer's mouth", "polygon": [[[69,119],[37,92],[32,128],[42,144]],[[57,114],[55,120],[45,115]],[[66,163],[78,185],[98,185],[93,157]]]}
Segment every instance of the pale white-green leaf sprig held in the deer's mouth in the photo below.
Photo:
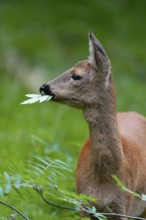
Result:
{"label": "pale white-green leaf sprig held in the deer's mouth", "polygon": [[28,97],[29,99],[21,102],[21,105],[27,105],[27,104],[33,104],[35,102],[45,102],[45,101],[49,101],[52,96],[49,95],[37,95],[37,94],[27,94],[25,95],[26,97]]}

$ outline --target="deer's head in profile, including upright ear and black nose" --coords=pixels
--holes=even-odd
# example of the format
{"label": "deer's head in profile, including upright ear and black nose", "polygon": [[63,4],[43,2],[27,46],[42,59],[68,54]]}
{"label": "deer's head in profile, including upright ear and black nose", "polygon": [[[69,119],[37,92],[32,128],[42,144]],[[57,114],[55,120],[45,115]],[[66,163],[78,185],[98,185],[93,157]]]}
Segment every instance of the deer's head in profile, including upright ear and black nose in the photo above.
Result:
{"label": "deer's head in profile, including upright ear and black nose", "polygon": [[103,46],[93,33],[89,33],[89,51],[89,59],[42,85],[40,93],[51,95],[53,101],[80,109],[98,103],[108,88],[111,66]]}

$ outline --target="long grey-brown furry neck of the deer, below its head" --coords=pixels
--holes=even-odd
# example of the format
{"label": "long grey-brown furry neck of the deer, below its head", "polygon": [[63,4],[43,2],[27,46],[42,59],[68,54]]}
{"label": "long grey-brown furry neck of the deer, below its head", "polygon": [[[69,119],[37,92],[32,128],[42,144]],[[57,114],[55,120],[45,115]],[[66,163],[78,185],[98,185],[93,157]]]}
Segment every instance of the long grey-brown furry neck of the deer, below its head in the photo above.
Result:
{"label": "long grey-brown furry neck of the deer, below its head", "polygon": [[[105,98],[104,98],[105,102]],[[91,166],[102,179],[120,171],[122,145],[117,128],[115,105],[111,100],[86,108],[84,117],[89,125]],[[94,175],[95,175],[94,174]]]}

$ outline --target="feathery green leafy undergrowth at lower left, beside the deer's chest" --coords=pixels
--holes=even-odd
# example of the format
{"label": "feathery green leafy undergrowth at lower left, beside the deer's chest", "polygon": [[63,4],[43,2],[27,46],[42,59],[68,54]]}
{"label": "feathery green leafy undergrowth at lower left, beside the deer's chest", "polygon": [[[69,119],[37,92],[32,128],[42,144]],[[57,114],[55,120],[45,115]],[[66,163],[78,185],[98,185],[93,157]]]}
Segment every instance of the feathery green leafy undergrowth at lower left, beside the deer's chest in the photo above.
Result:
{"label": "feathery green leafy undergrowth at lower left, beside the deer's chest", "polygon": [[[72,173],[72,169],[67,163],[58,159],[51,160],[47,156],[34,156],[24,174],[11,175],[8,172],[1,174],[0,197],[1,199],[6,196],[11,197],[13,191],[21,196],[22,189],[29,192],[35,190],[47,205],[72,211],[74,213],[72,219],[82,219],[79,215],[81,211],[87,215],[92,214],[98,219],[106,219],[104,215],[97,212],[94,206],[90,205],[90,203],[96,202],[95,198],[82,194],[77,195],[75,192],[63,189],[58,185],[58,176],[65,179],[68,173]],[[2,200],[0,204],[8,206]],[[17,210],[16,207],[14,210],[13,206],[10,208],[13,211]],[[29,219],[26,215],[19,213],[18,210],[16,213],[25,219]]]}

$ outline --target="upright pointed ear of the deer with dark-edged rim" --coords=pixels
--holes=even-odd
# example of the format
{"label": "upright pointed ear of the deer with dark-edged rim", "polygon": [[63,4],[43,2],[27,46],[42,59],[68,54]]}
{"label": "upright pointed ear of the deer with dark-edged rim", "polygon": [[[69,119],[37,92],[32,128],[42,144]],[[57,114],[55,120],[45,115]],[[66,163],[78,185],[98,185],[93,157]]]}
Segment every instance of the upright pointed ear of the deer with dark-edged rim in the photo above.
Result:
{"label": "upright pointed ear of the deer with dark-edged rim", "polygon": [[110,71],[110,61],[105,49],[92,32],[89,32],[89,51],[91,64],[107,75]]}

